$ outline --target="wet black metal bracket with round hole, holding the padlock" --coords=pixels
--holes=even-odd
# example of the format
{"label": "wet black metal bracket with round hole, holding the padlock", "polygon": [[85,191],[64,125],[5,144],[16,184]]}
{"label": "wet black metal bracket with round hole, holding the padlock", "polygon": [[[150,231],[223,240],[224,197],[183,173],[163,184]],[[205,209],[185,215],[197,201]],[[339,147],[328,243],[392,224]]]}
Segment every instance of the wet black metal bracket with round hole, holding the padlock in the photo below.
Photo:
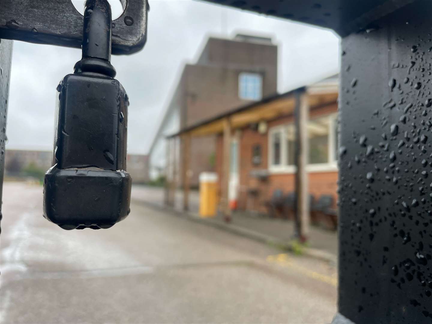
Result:
{"label": "wet black metal bracket with round hole, holding the padlock", "polygon": [[[140,51],[147,38],[147,0],[121,0],[112,22],[112,54]],[[83,16],[70,0],[1,0],[0,38],[81,48]]]}

